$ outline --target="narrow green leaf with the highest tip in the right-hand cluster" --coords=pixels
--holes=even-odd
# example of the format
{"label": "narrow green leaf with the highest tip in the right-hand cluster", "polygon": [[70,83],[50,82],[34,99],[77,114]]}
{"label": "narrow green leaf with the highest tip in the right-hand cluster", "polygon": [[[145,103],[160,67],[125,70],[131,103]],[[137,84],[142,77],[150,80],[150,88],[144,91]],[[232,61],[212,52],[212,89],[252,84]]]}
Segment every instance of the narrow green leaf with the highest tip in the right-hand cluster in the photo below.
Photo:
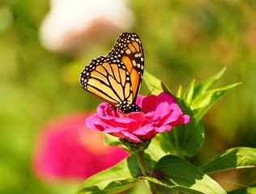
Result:
{"label": "narrow green leaf with the highest tip in the right-hand cluster", "polygon": [[215,82],[217,82],[222,77],[226,70],[227,68],[224,67],[222,70],[220,70],[219,73],[213,75],[211,78],[207,78],[205,81],[198,83],[194,87],[194,98],[196,98],[198,95],[202,95],[208,89],[210,89],[211,86],[214,86]]}

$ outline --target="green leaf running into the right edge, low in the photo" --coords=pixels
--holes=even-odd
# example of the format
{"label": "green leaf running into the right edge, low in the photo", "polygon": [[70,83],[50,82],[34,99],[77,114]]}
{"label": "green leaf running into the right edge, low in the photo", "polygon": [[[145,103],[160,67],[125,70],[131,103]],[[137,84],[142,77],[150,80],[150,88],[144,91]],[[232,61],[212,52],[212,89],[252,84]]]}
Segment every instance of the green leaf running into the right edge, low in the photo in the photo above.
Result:
{"label": "green leaf running into the right edge, low in the photo", "polygon": [[233,168],[256,167],[256,149],[237,147],[224,151],[204,163],[201,171],[211,173],[225,171]]}

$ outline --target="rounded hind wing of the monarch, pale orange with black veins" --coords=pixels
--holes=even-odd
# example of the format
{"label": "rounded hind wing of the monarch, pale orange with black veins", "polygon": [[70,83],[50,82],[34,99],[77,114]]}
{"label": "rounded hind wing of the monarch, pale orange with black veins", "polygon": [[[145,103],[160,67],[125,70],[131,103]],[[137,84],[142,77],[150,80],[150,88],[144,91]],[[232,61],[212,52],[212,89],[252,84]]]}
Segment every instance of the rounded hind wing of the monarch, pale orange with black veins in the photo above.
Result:
{"label": "rounded hind wing of the monarch, pale orange with black veins", "polygon": [[99,57],[87,65],[80,78],[84,90],[113,106],[132,103],[130,75],[126,66],[113,57]]}

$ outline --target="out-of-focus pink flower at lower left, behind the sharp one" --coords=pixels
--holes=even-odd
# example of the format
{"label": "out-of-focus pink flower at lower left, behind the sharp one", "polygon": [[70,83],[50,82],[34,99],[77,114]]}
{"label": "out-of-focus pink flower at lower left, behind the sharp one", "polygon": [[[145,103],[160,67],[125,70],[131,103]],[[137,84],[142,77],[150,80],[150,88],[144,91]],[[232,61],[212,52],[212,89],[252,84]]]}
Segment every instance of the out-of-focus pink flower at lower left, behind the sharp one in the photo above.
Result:
{"label": "out-of-focus pink flower at lower left, behind the sharp one", "polygon": [[85,179],[128,156],[104,145],[104,137],[84,126],[91,114],[74,113],[47,124],[39,133],[33,170],[44,180]]}

